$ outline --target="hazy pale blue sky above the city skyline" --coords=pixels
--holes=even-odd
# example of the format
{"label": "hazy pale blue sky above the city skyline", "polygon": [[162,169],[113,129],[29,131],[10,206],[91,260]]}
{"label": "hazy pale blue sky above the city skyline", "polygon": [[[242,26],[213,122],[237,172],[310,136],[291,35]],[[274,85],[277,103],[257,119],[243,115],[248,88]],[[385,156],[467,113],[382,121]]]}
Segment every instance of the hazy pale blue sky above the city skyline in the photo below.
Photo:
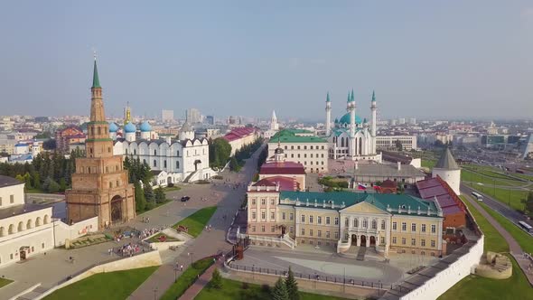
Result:
{"label": "hazy pale blue sky above the city skyline", "polygon": [[93,48],[111,116],[533,115],[531,1],[5,1],[0,36],[0,115],[89,114]]}

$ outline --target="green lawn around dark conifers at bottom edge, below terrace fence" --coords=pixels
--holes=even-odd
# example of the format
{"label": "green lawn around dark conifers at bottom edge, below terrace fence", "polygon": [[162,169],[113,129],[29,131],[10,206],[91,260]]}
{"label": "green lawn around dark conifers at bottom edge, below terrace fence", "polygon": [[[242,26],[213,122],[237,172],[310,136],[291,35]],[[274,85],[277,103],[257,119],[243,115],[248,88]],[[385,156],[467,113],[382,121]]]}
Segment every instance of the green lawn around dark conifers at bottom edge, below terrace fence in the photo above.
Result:
{"label": "green lawn around dark conifers at bottom edge, below terrace fence", "polygon": [[[194,300],[270,300],[272,295],[262,286],[248,284],[247,289],[242,288],[242,282],[222,278],[222,288],[211,289],[206,287],[201,290]],[[301,300],[343,300],[331,295],[318,295],[300,292]]]}

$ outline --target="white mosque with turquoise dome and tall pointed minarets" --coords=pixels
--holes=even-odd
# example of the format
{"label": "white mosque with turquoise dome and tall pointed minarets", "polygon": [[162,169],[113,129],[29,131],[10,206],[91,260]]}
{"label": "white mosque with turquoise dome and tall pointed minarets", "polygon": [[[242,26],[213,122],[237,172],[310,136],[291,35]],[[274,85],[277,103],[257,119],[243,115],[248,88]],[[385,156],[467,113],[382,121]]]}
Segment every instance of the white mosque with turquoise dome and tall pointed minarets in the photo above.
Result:
{"label": "white mosque with turquoise dome and tall pointed minarets", "polygon": [[329,144],[329,156],[332,159],[352,161],[369,160],[381,163],[381,153],[376,152],[376,95],[372,92],[370,103],[370,123],[356,115],[353,90],[348,93],[346,105],[348,111],[341,118],[335,118],[332,127],[332,101],[328,93],[326,98],[326,138]]}

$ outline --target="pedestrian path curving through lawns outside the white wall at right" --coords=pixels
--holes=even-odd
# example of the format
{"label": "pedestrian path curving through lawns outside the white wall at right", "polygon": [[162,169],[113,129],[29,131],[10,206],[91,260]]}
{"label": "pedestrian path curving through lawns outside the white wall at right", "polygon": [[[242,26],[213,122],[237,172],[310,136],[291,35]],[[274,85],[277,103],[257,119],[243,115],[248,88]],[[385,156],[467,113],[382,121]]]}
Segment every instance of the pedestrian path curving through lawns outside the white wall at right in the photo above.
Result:
{"label": "pedestrian path curving through lawns outside the white wall at right", "polygon": [[468,202],[470,202],[476,210],[480,211],[482,216],[485,217],[485,219],[487,219],[489,223],[491,223],[491,225],[496,230],[498,230],[498,232],[500,232],[503,239],[505,239],[509,244],[510,255],[512,255],[512,257],[516,259],[517,263],[519,264],[519,267],[522,269],[522,271],[524,271],[526,277],[528,277],[529,285],[533,286],[533,274],[528,271],[528,266],[529,264],[531,264],[531,261],[529,260],[529,258],[524,257],[524,251],[522,250],[522,248],[520,248],[520,245],[516,241],[516,239],[514,239],[510,235],[510,233],[500,225],[497,220],[492,218],[489,212],[485,211],[479,203],[473,201],[472,198],[468,195],[465,195],[464,198]]}

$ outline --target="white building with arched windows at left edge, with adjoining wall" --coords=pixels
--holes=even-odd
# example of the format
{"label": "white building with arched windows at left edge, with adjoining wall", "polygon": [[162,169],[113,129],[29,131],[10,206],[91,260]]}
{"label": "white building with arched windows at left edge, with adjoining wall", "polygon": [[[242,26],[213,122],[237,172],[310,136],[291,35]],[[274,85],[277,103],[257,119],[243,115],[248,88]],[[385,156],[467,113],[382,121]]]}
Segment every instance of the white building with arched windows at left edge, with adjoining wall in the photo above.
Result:
{"label": "white building with arched windows at left edge, with adjoining wall", "polygon": [[[55,228],[55,229],[54,229]],[[66,239],[98,229],[98,217],[69,226],[52,219],[52,207],[24,202],[24,183],[0,176],[0,267],[35,256]]]}

